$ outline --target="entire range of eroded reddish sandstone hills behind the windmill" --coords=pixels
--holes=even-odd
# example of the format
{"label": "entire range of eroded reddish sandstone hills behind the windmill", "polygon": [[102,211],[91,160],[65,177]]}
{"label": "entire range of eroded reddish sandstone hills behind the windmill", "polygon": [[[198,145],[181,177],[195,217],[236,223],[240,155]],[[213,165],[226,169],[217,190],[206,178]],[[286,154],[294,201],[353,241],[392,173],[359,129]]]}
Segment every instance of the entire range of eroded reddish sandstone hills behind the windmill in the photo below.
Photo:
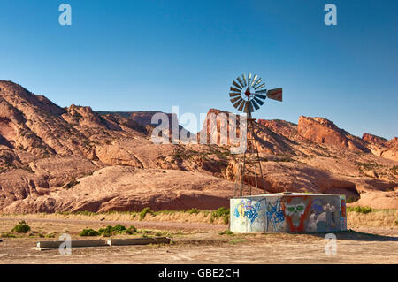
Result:
{"label": "entire range of eroded reddish sandstone hills behind the windmill", "polygon": [[[237,164],[221,131],[239,128],[240,118],[233,116],[233,125],[230,113],[210,109],[198,133],[208,133],[205,144],[154,144],[156,113],[61,108],[0,80],[0,211],[226,206]],[[351,204],[398,208],[396,137],[364,133],[361,139],[325,118],[308,117],[297,125],[258,119],[255,135],[264,171],[263,190],[256,193],[346,194]],[[245,180],[253,182],[250,175]]]}

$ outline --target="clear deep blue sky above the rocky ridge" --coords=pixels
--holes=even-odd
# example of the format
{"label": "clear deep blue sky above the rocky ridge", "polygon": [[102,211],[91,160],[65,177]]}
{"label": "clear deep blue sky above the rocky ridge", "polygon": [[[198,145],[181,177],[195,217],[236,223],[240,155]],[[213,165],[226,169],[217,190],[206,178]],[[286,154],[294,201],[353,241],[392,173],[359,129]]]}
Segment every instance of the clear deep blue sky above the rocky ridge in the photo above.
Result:
{"label": "clear deep blue sky above the rocky ridge", "polygon": [[[73,25],[58,24],[71,4]],[[325,26],[325,4],[337,26]],[[324,117],[350,133],[398,134],[398,2],[0,0],[0,80],[60,106],[197,115],[234,108],[254,72],[284,102],[255,118]]]}

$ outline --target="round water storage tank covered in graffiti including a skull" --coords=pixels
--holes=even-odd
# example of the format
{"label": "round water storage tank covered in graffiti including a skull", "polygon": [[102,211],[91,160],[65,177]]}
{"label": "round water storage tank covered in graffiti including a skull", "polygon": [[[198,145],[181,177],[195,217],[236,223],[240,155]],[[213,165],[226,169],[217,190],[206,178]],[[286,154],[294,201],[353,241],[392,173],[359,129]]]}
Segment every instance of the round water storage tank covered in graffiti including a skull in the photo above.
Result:
{"label": "round water storage tank covered in graffiti including a skull", "polygon": [[281,195],[231,200],[236,232],[334,232],[347,230],[344,195]]}

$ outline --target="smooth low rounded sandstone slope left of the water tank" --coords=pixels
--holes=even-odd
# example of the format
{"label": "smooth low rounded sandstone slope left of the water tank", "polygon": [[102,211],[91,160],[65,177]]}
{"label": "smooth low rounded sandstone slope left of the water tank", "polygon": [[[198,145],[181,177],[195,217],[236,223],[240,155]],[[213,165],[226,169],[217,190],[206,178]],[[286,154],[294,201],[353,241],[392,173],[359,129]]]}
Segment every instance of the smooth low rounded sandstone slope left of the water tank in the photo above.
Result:
{"label": "smooth low rounded sandstone slope left of the water tank", "polygon": [[4,212],[213,210],[228,206],[233,183],[197,172],[112,166],[79,179],[71,189],[16,199]]}

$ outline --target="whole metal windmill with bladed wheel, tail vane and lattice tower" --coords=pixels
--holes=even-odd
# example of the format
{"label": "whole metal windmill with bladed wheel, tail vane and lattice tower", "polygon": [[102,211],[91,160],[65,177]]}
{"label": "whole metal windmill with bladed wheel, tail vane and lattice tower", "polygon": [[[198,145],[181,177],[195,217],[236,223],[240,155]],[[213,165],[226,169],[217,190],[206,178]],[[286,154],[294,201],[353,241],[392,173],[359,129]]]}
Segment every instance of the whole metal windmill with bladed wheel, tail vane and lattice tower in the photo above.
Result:
{"label": "whole metal windmill with bladed wheel, tail vane and lattice tower", "polygon": [[[247,146],[238,158],[239,166],[233,191],[234,196],[242,196],[245,193],[244,176],[245,173],[247,173],[246,171],[248,170],[249,165],[254,165],[254,182],[256,188],[258,188],[257,165],[258,176],[260,179],[263,179],[260,156],[258,155],[257,142],[254,135],[256,119],[252,118],[251,113],[260,109],[260,106],[264,104],[264,100],[267,97],[282,102],[282,88],[267,90],[265,89],[265,83],[263,80],[256,74],[254,76],[252,73],[249,73],[248,76],[242,74],[241,77],[233,80],[229,96],[231,103],[233,103],[233,107],[247,115]],[[250,186],[249,195],[251,195]]]}

